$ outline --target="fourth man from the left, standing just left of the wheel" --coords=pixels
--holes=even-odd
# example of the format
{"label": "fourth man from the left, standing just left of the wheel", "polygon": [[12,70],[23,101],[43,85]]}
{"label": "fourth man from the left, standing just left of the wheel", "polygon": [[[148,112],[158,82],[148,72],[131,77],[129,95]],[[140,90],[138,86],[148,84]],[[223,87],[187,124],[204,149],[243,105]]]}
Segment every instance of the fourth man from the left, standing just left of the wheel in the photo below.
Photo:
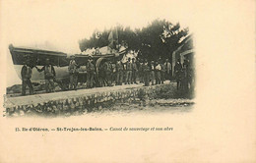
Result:
{"label": "fourth man from the left, standing just left of the wheel", "polygon": [[96,67],[93,64],[93,58],[90,57],[87,64],[87,87],[92,88],[94,86],[94,79],[96,75]]}

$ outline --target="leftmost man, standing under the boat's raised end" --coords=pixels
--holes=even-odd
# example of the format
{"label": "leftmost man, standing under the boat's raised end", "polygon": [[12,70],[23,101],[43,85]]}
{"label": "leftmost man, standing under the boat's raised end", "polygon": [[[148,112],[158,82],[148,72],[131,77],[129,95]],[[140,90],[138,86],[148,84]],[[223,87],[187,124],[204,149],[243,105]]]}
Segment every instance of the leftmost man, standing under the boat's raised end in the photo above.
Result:
{"label": "leftmost man, standing under the boat's raised end", "polygon": [[33,89],[32,89],[32,68],[29,66],[30,61],[27,60],[25,62],[25,65],[22,68],[22,81],[23,81],[23,87],[22,87],[22,95],[26,95],[26,87],[27,85],[30,87],[30,94],[33,94]]}

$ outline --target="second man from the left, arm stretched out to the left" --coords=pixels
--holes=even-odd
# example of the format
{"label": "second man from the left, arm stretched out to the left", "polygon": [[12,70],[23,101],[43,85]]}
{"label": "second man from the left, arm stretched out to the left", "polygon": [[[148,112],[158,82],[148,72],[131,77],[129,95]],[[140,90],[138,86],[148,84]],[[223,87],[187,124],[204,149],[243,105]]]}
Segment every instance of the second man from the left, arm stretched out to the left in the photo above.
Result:
{"label": "second man from the left, arm stretched out to the left", "polygon": [[54,80],[56,77],[55,70],[53,66],[50,64],[50,61],[48,58],[45,60],[45,66],[43,66],[41,69],[38,69],[35,67],[38,72],[44,71],[44,80],[45,80],[45,90],[46,92],[52,92],[55,91],[54,86]]}

